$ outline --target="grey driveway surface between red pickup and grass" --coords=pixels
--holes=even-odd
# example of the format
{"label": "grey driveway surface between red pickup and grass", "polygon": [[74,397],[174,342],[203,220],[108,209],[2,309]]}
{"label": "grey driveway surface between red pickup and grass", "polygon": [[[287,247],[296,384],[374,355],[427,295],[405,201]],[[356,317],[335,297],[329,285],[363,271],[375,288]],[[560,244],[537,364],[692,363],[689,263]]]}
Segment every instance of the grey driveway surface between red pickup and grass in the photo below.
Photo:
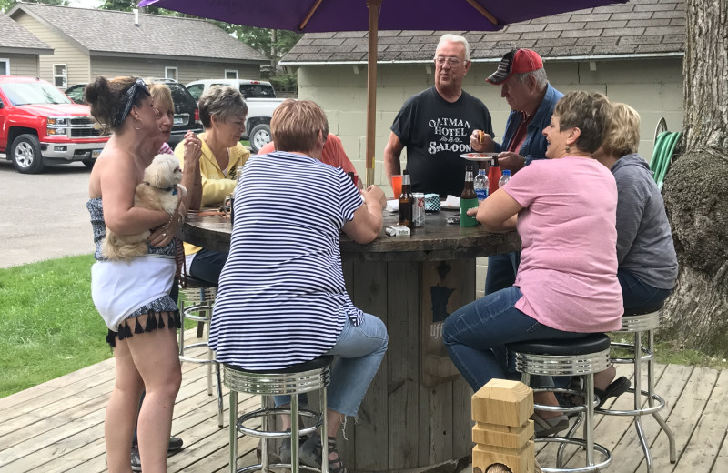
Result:
{"label": "grey driveway surface between red pickup and grass", "polygon": [[74,163],[26,175],[0,160],[0,267],[93,253],[90,173]]}

